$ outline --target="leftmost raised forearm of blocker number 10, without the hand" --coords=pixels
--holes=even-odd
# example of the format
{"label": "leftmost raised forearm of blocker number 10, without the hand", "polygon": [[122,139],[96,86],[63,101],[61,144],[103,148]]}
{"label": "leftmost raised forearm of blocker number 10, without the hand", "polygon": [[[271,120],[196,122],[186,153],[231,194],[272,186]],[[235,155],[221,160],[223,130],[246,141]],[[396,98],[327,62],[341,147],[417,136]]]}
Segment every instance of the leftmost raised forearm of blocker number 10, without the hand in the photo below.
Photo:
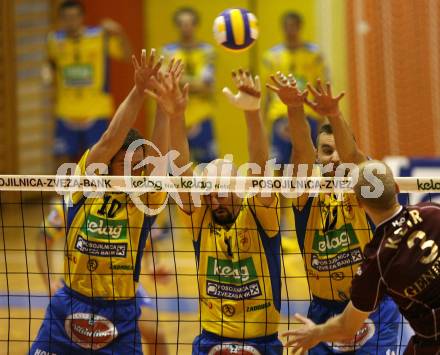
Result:
{"label": "leftmost raised forearm of blocker number 10, without the hand", "polygon": [[143,103],[144,94],[133,88],[122,104],[119,105],[107,130],[92,148],[87,164],[107,164],[115,156],[124,143],[128,131],[136,122]]}

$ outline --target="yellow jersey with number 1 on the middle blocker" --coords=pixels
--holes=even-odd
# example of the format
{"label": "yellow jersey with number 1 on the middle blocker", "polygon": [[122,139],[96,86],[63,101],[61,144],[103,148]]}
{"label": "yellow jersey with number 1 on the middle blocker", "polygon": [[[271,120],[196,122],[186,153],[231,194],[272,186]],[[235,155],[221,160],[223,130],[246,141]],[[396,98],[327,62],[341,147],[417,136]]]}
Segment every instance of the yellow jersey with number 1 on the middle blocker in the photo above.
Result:
{"label": "yellow jersey with number 1 on the middle blocker", "polygon": [[215,223],[208,207],[188,216],[194,236],[201,322],[231,338],[275,334],[281,306],[278,199],[263,207],[245,200],[234,225]]}

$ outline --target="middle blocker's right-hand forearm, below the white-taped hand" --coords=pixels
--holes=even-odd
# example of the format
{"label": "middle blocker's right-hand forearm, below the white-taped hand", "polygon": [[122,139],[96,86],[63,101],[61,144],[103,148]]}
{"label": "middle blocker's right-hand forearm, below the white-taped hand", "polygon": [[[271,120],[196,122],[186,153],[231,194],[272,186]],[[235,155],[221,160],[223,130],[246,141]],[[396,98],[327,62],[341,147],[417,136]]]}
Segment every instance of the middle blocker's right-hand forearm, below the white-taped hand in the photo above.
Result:
{"label": "middle blocker's right-hand forearm, below the white-taped hand", "polygon": [[269,159],[269,145],[260,111],[245,111],[249,162],[256,163],[264,174]]}

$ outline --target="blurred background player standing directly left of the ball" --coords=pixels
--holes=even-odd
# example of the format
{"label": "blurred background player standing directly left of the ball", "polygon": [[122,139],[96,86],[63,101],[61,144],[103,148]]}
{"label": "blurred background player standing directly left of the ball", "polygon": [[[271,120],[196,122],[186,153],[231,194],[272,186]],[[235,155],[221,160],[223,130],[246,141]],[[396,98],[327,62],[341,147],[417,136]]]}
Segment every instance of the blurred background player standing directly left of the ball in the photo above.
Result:
{"label": "blurred background player standing directly left of the ball", "polygon": [[189,83],[191,100],[186,113],[191,159],[198,163],[208,163],[217,156],[213,116],[215,112],[214,80],[215,53],[209,43],[199,42],[196,29],[200,16],[190,7],[174,13],[173,21],[179,30],[179,40],[162,48],[167,58],[181,59],[185,64],[182,83]]}

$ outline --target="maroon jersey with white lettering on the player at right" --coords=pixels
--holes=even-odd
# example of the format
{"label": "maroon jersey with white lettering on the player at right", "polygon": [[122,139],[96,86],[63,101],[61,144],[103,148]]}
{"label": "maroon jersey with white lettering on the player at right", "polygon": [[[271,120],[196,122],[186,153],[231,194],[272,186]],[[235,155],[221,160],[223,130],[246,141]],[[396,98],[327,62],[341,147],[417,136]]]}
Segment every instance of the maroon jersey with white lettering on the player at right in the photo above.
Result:
{"label": "maroon jersey with white lettering on the player at right", "polygon": [[440,205],[402,207],[377,226],[365,247],[365,261],[352,282],[353,305],[371,312],[389,294],[421,339],[439,339],[439,246]]}

